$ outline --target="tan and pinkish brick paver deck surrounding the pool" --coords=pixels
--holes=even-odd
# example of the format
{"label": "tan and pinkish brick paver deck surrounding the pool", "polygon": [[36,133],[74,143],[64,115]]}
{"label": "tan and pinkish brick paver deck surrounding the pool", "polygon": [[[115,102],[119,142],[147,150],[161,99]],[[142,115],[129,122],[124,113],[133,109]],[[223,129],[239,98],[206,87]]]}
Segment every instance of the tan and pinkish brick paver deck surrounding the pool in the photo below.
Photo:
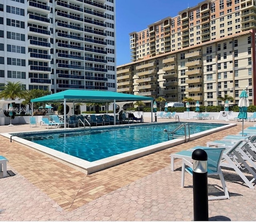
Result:
{"label": "tan and pinkish brick paver deck surrounding the pool", "polygon": [[[9,160],[7,170],[16,174],[0,178],[0,220],[191,221],[192,177],[186,175],[181,188],[181,162],[176,161],[176,170],[170,171],[169,155],[242,130],[242,122],[230,122],[237,126],[90,175],[0,136],[0,155]],[[245,128],[253,125],[244,122]],[[0,126],[0,133],[31,130],[40,127]],[[223,172],[230,200],[209,201],[209,220],[256,220],[256,190],[245,186],[236,173]],[[220,185],[220,180],[209,178],[208,184]]]}

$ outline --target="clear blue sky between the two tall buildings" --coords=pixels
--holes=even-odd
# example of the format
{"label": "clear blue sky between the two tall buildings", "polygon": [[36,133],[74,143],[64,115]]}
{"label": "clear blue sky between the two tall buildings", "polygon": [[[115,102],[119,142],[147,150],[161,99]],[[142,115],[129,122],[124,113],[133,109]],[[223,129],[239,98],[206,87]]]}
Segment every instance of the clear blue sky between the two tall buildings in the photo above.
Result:
{"label": "clear blue sky between the two tall buildings", "polygon": [[129,33],[148,28],[149,24],[174,17],[202,0],[116,0],[116,65],[131,62]]}

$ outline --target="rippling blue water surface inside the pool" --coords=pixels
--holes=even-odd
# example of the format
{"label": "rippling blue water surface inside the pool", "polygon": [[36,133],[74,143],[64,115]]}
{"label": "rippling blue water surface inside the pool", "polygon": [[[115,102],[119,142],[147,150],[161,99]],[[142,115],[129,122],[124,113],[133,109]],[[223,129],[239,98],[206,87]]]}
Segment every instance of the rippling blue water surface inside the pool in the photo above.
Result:
{"label": "rippling blue water surface inside the pool", "polygon": [[[190,123],[190,134],[223,125],[225,124]],[[86,131],[23,134],[19,137],[92,162],[168,141],[168,133],[164,132],[164,129],[170,132],[177,126],[179,126],[177,122],[147,125],[132,124],[118,128],[110,127]],[[186,128],[188,131],[188,127]],[[184,128],[178,130],[176,134],[184,135]]]}

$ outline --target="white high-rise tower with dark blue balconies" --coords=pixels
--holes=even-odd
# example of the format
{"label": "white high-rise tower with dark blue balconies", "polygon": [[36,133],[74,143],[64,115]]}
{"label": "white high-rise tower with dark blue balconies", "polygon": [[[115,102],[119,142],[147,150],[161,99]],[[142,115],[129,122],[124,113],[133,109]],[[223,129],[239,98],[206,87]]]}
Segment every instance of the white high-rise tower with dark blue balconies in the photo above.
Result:
{"label": "white high-rise tower with dark blue balconies", "polygon": [[0,1],[0,85],[116,91],[114,0]]}

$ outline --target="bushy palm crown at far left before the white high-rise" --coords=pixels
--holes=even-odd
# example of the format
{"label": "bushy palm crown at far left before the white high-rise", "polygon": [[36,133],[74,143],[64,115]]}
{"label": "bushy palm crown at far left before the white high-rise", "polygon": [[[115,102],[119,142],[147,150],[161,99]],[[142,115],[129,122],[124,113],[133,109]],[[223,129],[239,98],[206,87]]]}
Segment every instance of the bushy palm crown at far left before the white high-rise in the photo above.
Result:
{"label": "bushy palm crown at far left before the white high-rise", "polygon": [[27,91],[22,88],[21,82],[8,82],[4,86],[0,87],[0,98],[15,100],[16,98],[23,99]]}

